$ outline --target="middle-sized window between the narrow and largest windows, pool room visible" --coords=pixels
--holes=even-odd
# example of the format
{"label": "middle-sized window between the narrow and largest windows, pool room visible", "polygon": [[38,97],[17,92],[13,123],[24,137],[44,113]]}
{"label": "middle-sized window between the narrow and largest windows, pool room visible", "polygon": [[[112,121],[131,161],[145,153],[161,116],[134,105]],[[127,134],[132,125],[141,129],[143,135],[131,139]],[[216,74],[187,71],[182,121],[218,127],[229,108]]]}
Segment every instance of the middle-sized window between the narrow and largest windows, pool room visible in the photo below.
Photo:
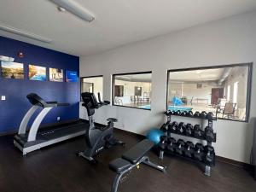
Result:
{"label": "middle-sized window between the narrow and largest windows, pool room visible", "polygon": [[151,109],[151,72],[113,75],[113,103]]}

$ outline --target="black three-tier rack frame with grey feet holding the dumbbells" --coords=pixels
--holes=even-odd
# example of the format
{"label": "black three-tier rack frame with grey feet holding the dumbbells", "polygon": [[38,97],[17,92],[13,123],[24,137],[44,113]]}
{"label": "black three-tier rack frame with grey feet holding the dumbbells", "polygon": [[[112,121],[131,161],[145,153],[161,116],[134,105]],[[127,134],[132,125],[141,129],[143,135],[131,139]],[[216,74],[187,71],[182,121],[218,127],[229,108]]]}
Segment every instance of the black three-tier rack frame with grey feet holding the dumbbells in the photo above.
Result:
{"label": "black three-tier rack frame with grey feet holding the dumbbells", "polygon": [[[166,113],[165,113],[166,114]],[[215,118],[215,117],[213,117],[212,119],[207,119],[207,117],[206,118],[204,118],[204,117],[195,117],[195,116],[182,116],[182,115],[177,115],[177,114],[166,114],[166,116],[167,116],[167,121],[170,121],[171,122],[171,116],[179,116],[179,117],[184,117],[184,118],[193,118],[193,119],[203,119],[203,120],[207,120],[208,121],[208,126],[210,126],[210,127],[212,127],[212,125],[213,125],[213,120],[217,120],[217,118]],[[185,135],[185,134],[180,134],[180,133],[177,133],[177,132],[172,132],[172,131],[167,131],[168,132],[168,137],[171,137],[171,133],[173,133],[173,134],[177,134],[177,135],[181,135],[181,136],[183,136],[183,137],[192,137],[192,138],[196,138],[196,139],[200,139],[200,140],[205,140],[205,141],[207,141],[207,139],[205,138],[205,137],[195,137],[195,136],[187,136],[187,135]],[[217,135],[216,135],[216,133],[214,133],[214,140],[212,141],[212,142],[208,142],[207,141],[207,145],[209,145],[209,146],[212,146],[212,143],[216,143],[216,137],[217,137]],[[195,159],[192,159],[192,158],[189,158],[189,157],[186,157],[186,156],[183,156],[183,155],[180,155],[180,154],[176,154],[175,152],[171,152],[171,151],[169,151],[169,150],[161,150],[160,149],[160,155],[159,155],[159,158],[161,159],[161,160],[163,160],[164,159],[164,154],[172,154],[172,155],[175,155],[175,156],[178,156],[178,157],[180,157],[180,158],[183,158],[183,159],[185,159],[185,160],[189,160],[189,161],[194,161],[195,163],[201,163],[202,165],[204,165],[205,166],[205,172],[204,172],[204,174],[205,175],[207,175],[207,176],[211,176],[211,167],[212,166],[215,166],[215,152],[213,153],[213,160],[212,160],[212,164],[207,164],[206,162],[203,162],[203,161],[200,161],[200,160],[195,160]]]}

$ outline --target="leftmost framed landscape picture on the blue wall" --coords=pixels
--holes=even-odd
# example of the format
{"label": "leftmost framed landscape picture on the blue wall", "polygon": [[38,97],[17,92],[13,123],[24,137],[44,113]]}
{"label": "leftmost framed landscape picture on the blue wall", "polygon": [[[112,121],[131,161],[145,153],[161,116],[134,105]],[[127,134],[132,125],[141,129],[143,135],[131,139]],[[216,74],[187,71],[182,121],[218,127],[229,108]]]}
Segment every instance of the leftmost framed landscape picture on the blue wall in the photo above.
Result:
{"label": "leftmost framed landscape picture on the blue wall", "polygon": [[7,79],[24,79],[24,67],[22,63],[1,61],[2,77]]}

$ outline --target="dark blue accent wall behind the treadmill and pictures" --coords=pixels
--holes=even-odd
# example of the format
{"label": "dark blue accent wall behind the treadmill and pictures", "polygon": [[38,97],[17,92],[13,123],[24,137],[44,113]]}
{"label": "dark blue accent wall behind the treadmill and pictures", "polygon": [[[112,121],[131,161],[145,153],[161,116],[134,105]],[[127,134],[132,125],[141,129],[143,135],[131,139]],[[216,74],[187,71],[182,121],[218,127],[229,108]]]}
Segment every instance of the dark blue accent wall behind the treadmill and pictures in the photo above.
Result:
{"label": "dark blue accent wall behind the treadmill and pictures", "polygon": [[[17,56],[19,51],[24,53],[23,58]],[[0,55],[14,57],[15,62],[23,63],[25,73],[25,79],[3,79],[0,75],[0,96],[6,96],[6,101],[0,100],[0,134],[18,131],[21,119],[32,106],[26,99],[26,95],[31,92],[37,93],[45,101],[70,103],[68,107],[53,108],[45,117],[43,125],[57,122],[58,116],[61,120],[79,119],[79,80],[76,83],[66,83],[28,79],[29,64],[47,67],[47,79],[49,79],[49,67],[63,69],[64,79],[66,70],[79,73],[78,56],[1,36]]]}

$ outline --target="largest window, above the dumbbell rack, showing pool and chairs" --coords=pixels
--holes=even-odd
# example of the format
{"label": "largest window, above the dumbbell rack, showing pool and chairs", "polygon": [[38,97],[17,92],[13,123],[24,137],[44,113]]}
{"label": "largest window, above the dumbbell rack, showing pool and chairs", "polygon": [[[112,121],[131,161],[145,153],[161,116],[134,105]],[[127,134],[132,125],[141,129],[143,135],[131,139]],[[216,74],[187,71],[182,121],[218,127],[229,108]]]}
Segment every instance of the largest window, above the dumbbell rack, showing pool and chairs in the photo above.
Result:
{"label": "largest window, above the dumbbell rack, showing pool and chairs", "polygon": [[[168,72],[167,108],[247,121],[252,64]],[[248,86],[249,84],[249,86]]]}

